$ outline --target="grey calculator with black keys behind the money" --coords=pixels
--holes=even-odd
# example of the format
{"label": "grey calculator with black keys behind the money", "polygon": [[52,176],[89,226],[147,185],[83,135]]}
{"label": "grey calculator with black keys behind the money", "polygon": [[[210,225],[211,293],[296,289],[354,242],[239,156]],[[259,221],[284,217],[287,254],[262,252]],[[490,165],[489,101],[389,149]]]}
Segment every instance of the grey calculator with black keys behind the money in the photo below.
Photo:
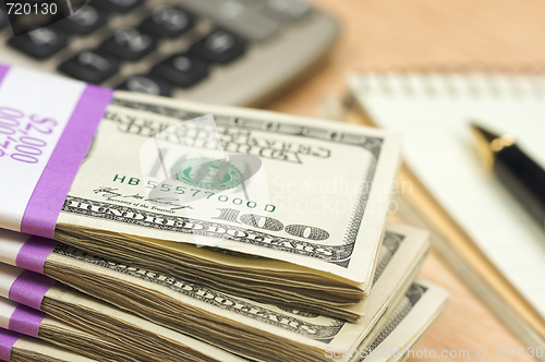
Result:
{"label": "grey calculator with black keys behind the money", "polygon": [[13,36],[0,9],[0,62],[102,86],[259,106],[327,56],[338,23],[302,0],[89,0]]}

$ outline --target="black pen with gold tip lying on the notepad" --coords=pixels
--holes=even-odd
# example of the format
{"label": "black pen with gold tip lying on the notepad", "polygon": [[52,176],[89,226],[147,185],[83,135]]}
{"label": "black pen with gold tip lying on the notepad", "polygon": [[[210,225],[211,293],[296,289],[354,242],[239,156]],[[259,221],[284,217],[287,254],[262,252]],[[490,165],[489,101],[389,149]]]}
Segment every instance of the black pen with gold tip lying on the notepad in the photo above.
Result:
{"label": "black pen with gold tip lying on the notepad", "polygon": [[485,165],[545,227],[545,170],[523,153],[511,136],[494,134],[476,124],[471,129]]}

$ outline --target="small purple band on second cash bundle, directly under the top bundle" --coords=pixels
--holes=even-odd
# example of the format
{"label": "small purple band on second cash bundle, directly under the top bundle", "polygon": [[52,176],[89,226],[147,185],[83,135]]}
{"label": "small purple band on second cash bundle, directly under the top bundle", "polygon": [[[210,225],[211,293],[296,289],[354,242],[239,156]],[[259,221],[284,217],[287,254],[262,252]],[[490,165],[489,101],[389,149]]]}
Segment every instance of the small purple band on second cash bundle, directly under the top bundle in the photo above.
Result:
{"label": "small purple band on second cash bundle, directly under the top bundle", "polygon": [[44,274],[46,260],[58,242],[40,237],[31,237],[17,253],[15,265],[20,268]]}

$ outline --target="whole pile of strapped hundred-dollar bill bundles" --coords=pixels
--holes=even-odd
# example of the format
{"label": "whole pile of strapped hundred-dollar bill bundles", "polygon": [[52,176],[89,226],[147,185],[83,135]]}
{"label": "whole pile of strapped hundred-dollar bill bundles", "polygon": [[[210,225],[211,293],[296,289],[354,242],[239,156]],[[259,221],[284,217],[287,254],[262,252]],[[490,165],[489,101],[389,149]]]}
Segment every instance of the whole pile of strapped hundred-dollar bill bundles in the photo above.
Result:
{"label": "whole pile of strapped hundred-dollar bill bundles", "polygon": [[403,360],[448,293],[400,147],[0,65],[0,358]]}

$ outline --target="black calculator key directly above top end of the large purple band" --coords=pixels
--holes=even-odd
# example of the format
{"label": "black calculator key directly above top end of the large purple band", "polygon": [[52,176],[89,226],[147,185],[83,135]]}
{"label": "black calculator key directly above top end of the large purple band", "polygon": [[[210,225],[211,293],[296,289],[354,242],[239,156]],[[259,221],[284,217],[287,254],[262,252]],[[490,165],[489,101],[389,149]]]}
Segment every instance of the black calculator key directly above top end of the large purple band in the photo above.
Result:
{"label": "black calculator key directly above top end of the large purple band", "polygon": [[84,50],[64,61],[59,70],[87,83],[101,83],[119,71],[119,60],[107,53]]}

